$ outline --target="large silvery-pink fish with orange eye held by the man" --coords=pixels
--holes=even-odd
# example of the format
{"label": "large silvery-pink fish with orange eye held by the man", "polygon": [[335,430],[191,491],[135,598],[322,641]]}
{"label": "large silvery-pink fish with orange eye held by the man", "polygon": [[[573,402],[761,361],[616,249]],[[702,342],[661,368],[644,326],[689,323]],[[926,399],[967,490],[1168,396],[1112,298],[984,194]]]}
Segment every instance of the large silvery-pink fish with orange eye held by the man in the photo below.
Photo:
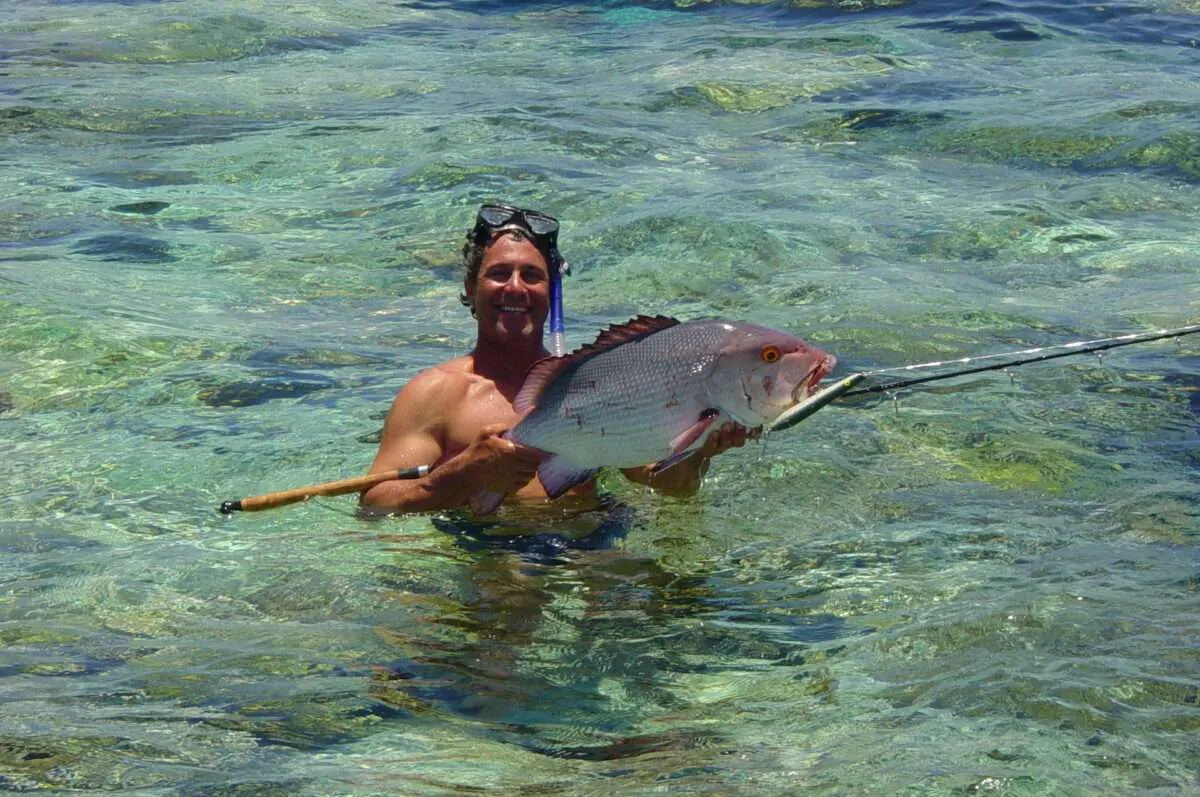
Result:
{"label": "large silvery-pink fish with orange eye held by the man", "polygon": [[[835,364],[766,326],[638,316],[535,364],[512,403],[521,420],[505,437],[551,455],[538,478],[557,498],[605,466],[664,471],[726,420],[770,424]],[[472,507],[486,514],[499,499],[480,493]]]}

